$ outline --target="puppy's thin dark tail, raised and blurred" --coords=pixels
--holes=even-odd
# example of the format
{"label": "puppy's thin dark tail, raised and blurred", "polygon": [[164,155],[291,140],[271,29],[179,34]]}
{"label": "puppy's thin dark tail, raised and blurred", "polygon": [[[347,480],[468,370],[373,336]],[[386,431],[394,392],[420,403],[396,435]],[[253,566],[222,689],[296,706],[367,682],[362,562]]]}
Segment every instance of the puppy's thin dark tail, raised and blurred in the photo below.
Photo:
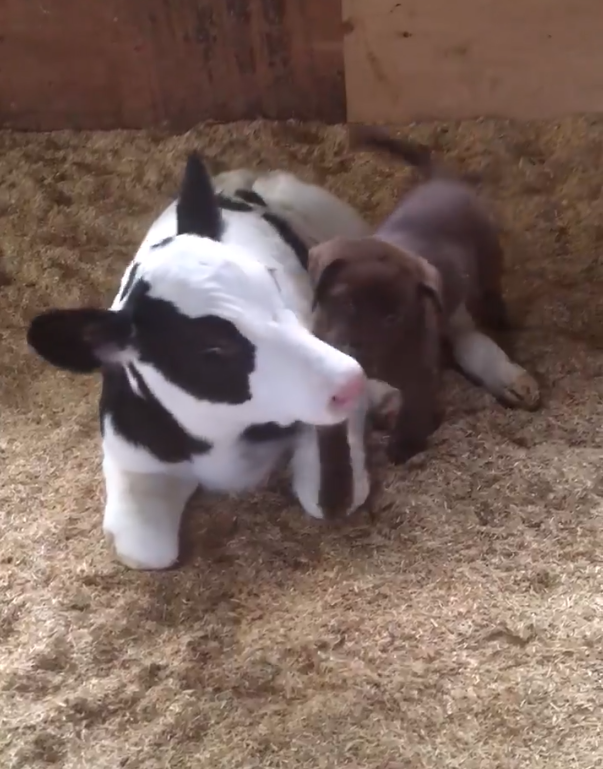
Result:
{"label": "puppy's thin dark tail, raised and blurred", "polygon": [[396,139],[380,126],[351,125],[348,127],[348,145],[352,150],[376,150],[391,157],[400,158],[416,168],[428,179],[457,179],[467,184],[479,184],[478,174],[459,174],[434,160],[432,150],[420,142]]}

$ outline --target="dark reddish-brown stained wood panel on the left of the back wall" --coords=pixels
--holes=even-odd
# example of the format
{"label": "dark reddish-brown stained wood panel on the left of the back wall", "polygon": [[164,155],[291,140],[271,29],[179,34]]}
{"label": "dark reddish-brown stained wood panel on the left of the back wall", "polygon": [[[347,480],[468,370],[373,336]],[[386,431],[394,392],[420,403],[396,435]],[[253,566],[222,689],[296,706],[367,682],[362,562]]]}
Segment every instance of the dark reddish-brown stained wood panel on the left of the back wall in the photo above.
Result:
{"label": "dark reddish-brown stained wood panel on the left of the back wall", "polygon": [[345,119],[341,0],[2,0],[0,125]]}

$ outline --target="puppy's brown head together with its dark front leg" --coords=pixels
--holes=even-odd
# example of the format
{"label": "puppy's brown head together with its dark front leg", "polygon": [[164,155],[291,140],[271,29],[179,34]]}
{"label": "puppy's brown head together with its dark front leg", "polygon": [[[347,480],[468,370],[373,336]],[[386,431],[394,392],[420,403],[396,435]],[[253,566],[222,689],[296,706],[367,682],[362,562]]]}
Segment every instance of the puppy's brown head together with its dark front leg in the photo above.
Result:
{"label": "puppy's brown head together with its dark front leg", "polygon": [[397,387],[403,405],[390,457],[426,447],[439,425],[441,286],[424,260],[376,238],[338,238],[310,256],[314,333],[354,355],[371,379]]}

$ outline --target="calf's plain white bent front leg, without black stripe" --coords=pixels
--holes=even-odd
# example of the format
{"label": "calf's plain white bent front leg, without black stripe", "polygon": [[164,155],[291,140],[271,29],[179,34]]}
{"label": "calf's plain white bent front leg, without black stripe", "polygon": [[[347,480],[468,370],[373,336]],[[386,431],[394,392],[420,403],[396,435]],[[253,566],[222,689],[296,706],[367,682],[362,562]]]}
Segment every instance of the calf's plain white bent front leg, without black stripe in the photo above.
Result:
{"label": "calf's plain white bent front leg, without black stripe", "polygon": [[103,531],[130,569],[167,569],[178,559],[184,506],[197,488],[190,478],[133,473],[103,462],[107,500]]}

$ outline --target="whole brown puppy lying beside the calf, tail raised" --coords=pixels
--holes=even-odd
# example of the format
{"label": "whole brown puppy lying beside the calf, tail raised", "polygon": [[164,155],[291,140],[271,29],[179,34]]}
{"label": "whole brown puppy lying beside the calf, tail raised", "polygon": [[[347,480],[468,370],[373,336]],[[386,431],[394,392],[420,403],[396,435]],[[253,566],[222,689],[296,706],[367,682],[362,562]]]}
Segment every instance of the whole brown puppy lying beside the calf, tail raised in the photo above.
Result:
{"label": "whole brown puppy lying beside the calf, tail raised", "polygon": [[399,388],[389,455],[403,462],[426,448],[441,421],[444,345],[472,381],[509,406],[536,408],[539,390],[478,330],[505,328],[507,313],[498,232],[473,189],[438,172],[426,148],[378,129],[357,130],[354,139],[430,177],[372,237],[337,238],[310,252],[315,333],[354,355],[370,378]]}

